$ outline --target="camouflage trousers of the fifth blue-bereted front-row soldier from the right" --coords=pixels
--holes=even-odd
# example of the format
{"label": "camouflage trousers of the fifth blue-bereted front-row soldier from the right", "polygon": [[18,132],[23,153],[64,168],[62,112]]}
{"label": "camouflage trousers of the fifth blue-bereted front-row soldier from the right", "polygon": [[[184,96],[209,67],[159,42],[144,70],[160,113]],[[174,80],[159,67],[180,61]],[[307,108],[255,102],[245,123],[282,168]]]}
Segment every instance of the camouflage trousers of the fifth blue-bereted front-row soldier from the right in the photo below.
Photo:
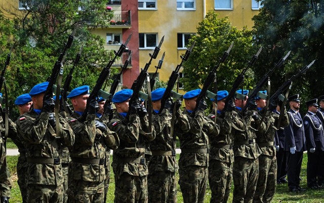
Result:
{"label": "camouflage trousers of the fifth blue-bereted front-row soldier from the right", "polygon": [[176,175],[171,171],[155,171],[148,175],[148,202],[177,202]]}

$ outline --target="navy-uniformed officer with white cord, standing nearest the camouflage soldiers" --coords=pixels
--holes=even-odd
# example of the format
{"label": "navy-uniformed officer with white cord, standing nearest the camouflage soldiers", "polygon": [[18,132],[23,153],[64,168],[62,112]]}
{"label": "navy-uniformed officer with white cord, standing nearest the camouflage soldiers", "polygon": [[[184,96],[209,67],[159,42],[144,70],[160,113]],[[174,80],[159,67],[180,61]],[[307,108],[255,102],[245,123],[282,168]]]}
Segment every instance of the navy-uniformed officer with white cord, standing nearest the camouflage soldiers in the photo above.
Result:
{"label": "navy-uniformed officer with white cord, standing nearest the camouflage soldiers", "polygon": [[299,94],[288,97],[290,109],[288,111],[290,124],[285,127],[287,151],[287,175],[289,191],[299,192],[306,189],[300,187],[300,170],[303,161],[303,152],[306,151],[306,138],[303,120],[298,112],[300,107]]}

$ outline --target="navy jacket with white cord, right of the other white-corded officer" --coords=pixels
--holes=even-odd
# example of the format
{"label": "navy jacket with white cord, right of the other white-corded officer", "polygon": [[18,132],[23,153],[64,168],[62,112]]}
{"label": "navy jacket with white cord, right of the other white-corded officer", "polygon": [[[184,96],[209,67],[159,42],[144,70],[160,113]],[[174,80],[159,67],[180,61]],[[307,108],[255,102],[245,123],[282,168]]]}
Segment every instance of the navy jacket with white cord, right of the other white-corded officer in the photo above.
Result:
{"label": "navy jacket with white cord, right of the other white-corded officer", "polygon": [[315,150],[324,150],[323,127],[320,119],[311,112],[307,112],[303,123],[307,150],[314,147]]}

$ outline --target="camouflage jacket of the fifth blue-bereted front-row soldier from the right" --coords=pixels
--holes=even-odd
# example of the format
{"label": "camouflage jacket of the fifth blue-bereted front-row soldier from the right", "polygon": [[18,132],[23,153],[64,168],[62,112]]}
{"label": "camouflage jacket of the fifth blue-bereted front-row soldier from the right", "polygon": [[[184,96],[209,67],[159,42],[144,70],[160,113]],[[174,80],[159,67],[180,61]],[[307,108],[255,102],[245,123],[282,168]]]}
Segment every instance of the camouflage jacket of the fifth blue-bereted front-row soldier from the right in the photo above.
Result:
{"label": "camouflage jacket of the fifth blue-bereted front-row soldier from the right", "polygon": [[148,170],[150,173],[155,171],[171,171],[175,172],[177,161],[175,156],[176,151],[176,134],[186,133],[190,130],[188,118],[179,109],[176,112],[174,135],[170,137],[172,114],[169,110],[163,109],[160,114],[153,111],[152,123],[154,125],[156,137],[150,142],[152,153],[154,151],[173,151],[172,155],[153,155],[150,158]]}

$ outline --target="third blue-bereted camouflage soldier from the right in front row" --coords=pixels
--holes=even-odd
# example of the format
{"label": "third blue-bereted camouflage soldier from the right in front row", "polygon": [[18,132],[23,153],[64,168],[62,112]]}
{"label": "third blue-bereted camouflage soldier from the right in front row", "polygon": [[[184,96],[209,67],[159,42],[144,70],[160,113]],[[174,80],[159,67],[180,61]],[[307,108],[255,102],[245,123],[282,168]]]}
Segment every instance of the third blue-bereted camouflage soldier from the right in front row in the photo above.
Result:
{"label": "third blue-bereted camouflage soldier from the right in front row", "polygon": [[215,99],[213,111],[208,117],[215,120],[220,127],[219,135],[210,139],[211,149],[209,152],[209,185],[212,191],[210,202],[227,202],[232,185],[232,171],[234,163],[233,138],[231,134],[232,117],[235,104],[230,100],[227,104],[224,117],[220,117],[225,106],[225,99],[228,96],[226,90],[217,92],[217,116],[215,115]]}

